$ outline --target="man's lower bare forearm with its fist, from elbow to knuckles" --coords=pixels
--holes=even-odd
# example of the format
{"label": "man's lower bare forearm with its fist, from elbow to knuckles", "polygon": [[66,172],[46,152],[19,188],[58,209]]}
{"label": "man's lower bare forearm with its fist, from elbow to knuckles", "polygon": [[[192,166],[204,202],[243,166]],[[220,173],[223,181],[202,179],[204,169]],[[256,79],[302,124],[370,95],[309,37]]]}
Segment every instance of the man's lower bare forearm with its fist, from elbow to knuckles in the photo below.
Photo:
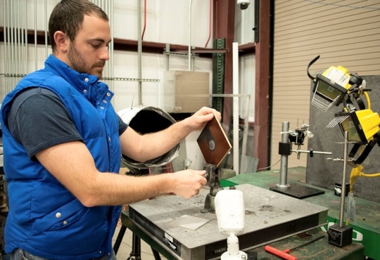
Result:
{"label": "man's lower bare forearm with its fist, from elbow to knuckles", "polygon": [[204,174],[205,171],[191,169],[153,176],[99,173],[91,183],[87,183],[87,193],[82,193],[80,201],[87,207],[94,207],[130,204],[165,193],[190,198],[207,183]]}

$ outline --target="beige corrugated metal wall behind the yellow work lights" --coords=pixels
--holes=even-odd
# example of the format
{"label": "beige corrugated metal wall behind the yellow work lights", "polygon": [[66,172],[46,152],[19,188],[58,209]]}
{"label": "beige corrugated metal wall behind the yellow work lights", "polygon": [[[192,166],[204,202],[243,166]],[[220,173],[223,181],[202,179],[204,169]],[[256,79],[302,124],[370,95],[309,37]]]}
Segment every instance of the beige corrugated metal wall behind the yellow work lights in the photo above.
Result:
{"label": "beige corrugated metal wall behind the yellow work lights", "polygon": [[[318,55],[321,57],[310,68],[311,74],[338,65],[363,76],[380,74],[379,1],[274,1],[272,164],[280,159],[282,122],[290,122],[291,130],[309,123],[310,79],[306,70]],[[308,149],[307,140],[302,149]],[[305,167],[307,156],[301,154],[297,160],[293,153],[289,167]]]}

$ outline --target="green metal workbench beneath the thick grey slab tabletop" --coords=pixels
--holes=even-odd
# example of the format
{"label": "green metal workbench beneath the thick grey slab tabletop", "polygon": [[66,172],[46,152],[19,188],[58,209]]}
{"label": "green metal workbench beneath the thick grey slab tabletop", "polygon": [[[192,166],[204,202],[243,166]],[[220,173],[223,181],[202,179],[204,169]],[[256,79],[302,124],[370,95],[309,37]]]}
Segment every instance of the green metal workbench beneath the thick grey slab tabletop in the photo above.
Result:
{"label": "green metal workbench beneath the thick grey slab tabletop", "polygon": [[[302,185],[308,186],[308,184],[302,182],[303,179],[305,178],[305,168],[303,167],[289,169],[288,178],[289,178],[289,183],[298,182],[298,183],[302,183]],[[231,186],[231,185],[239,186],[239,184],[250,183],[253,186],[258,186],[260,188],[265,188],[269,190],[269,188],[272,186],[275,186],[276,183],[278,183],[278,181],[279,181],[278,172],[262,171],[262,172],[253,173],[253,174],[240,174],[233,178],[223,180],[221,181],[221,183],[222,183],[222,186],[224,187]],[[309,197],[304,200],[308,202],[312,202],[313,204],[321,205],[322,207],[329,208],[328,220],[330,222],[338,222],[337,219],[339,216],[340,197],[335,196],[334,192],[331,190],[325,190],[325,191],[326,192],[324,195]],[[358,201],[357,204],[361,204],[361,203]],[[361,207],[359,206],[359,208]],[[334,217],[335,219],[331,219]],[[178,255],[173,254],[172,249],[167,247],[167,245],[163,245],[163,243],[157,242],[157,240],[153,238],[153,235],[149,231],[145,230],[144,228],[141,228],[139,223],[136,223],[135,221],[132,221],[131,219],[129,219],[129,212],[122,212],[122,229],[120,231],[118,240],[121,240],[123,232],[125,232],[126,228],[129,228],[130,230],[132,230],[132,232],[138,235],[139,238],[146,241],[148,245],[151,245],[152,249],[154,249],[153,252],[155,251],[159,252],[161,255],[165,256],[166,259],[182,259],[182,258],[179,258]],[[312,235],[317,234],[317,233],[323,233],[322,230],[324,228],[327,229],[327,225],[325,227],[322,227],[322,229],[315,228],[313,230],[310,230],[308,231],[308,233],[311,233]],[[118,247],[117,245],[118,240],[116,241],[116,245],[115,245],[116,247]],[[273,247],[284,250],[288,247],[299,245],[300,243],[302,243],[303,240],[305,240],[305,238],[301,238],[299,235],[293,235],[284,240],[279,240],[277,242],[270,242],[269,244],[272,245]],[[370,238],[368,238],[368,240],[371,241]],[[374,241],[372,242],[374,243]],[[363,256],[365,255],[364,250],[365,248],[362,245],[359,245],[355,242],[353,243],[353,245],[349,245],[343,248],[330,245],[327,242],[327,237],[326,237],[321,240],[312,242],[310,245],[305,245],[304,247],[296,249],[294,250],[294,252],[291,252],[291,254],[293,256],[297,256],[298,259],[316,259],[316,260],[317,259],[360,259],[361,260],[363,259]],[[262,245],[258,245],[258,247],[249,249],[249,251],[257,252],[258,259],[278,259],[277,256],[273,256],[272,254],[268,254],[267,252],[265,252]],[[159,259],[158,258],[159,256],[156,256],[158,254],[154,254],[154,255],[155,257],[157,257],[156,259]],[[371,256],[371,257],[374,259],[377,259],[374,256]]]}

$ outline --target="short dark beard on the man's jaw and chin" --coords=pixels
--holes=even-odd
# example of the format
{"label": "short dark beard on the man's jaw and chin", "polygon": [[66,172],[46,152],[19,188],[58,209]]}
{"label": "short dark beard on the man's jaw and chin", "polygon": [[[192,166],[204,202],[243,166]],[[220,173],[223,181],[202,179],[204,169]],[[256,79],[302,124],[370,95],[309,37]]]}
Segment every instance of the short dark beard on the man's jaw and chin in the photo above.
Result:
{"label": "short dark beard on the man's jaw and chin", "polygon": [[[99,77],[99,79],[103,77],[103,68],[99,69],[97,66],[104,66],[106,62],[99,61],[94,65],[89,65],[82,53],[75,48],[74,44],[70,44],[68,49],[68,60],[70,61],[71,68],[79,73],[92,74]],[[96,67],[96,70],[91,71],[91,68],[93,67]]]}

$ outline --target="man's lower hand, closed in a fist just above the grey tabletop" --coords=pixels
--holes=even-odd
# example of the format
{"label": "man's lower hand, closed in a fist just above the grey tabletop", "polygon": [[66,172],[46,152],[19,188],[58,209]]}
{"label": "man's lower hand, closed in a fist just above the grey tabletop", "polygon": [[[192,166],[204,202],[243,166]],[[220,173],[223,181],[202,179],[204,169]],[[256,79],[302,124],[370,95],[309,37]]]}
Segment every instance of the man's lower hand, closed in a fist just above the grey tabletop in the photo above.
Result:
{"label": "man's lower hand, closed in a fist just above the grey tabletop", "polygon": [[175,172],[172,174],[173,190],[171,192],[186,199],[197,195],[199,190],[207,183],[203,175],[205,175],[205,171],[194,171],[191,169]]}

